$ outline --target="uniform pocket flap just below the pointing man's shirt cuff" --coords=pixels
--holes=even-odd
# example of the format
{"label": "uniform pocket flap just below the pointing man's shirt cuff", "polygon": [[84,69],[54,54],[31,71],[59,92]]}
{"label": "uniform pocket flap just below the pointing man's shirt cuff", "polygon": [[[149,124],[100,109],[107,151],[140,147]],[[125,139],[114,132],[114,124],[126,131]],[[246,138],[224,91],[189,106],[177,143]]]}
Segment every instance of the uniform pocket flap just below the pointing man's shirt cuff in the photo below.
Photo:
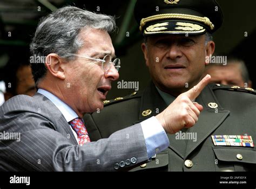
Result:
{"label": "uniform pocket flap just below the pointing man's shirt cuff", "polygon": [[157,154],[156,158],[152,158],[151,162],[137,166],[130,171],[165,171],[164,167],[166,166],[166,171],[168,169],[169,163],[169,154],[168,151],[163,151]]}

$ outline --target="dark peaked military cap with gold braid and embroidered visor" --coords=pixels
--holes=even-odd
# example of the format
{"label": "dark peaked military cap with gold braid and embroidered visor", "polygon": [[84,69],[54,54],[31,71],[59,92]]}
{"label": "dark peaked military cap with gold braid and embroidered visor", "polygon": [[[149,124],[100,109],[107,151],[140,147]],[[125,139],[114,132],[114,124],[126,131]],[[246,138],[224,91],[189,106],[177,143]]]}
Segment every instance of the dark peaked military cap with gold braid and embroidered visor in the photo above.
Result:
{"label": "dark peaked military cap with gold braid and embroidered visor", "polygon": [[215,0],[137,0],[134,16],[144,36],[213,33],[224,17]]}

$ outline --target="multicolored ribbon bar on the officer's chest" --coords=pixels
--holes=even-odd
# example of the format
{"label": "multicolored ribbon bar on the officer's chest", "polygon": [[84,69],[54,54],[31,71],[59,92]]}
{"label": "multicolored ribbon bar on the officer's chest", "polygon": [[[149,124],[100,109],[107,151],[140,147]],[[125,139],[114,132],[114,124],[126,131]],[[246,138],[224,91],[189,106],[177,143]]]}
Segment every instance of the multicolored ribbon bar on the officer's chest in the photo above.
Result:
{"label": "multicolored ribbon bar on the officer's chest", "polygon": [[254,147],[252,136],[212,135],[214,146],[245,146]]}

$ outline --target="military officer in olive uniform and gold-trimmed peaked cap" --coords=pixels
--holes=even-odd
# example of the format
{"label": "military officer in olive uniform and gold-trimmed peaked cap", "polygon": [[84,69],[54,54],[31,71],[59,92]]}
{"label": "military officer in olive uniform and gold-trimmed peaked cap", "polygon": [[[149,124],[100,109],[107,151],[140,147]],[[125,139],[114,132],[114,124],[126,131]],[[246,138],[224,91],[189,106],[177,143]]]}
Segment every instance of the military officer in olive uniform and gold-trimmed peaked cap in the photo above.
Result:
{"label": "military officer in olive uniform and gold-trimmed peaked cap", "polygon": [[[84,120],[92,140],[163,111],[202,78],[214,52],[212,33],[223,23],[215,0],[140,0],[134,16],[144,36],[142,51],[152,78],[142,92],[105,101]],[[131,171],[255,171],[256,96],[251,88],[207,85],[192,128],[168,135],[170,146]]]}

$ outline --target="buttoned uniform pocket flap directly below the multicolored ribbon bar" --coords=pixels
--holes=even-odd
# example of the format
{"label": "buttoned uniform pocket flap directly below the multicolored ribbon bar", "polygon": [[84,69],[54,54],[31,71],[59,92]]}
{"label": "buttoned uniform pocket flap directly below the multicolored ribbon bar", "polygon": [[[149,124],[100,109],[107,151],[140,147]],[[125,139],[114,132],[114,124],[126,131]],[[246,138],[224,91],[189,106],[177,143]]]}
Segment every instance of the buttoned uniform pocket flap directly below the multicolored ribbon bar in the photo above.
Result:
{"label": "buttoned uniform pocket flap directly below the multicolored ribbon bar", "polygon": [[254,148],[213,146],[212,149],[218,160],[256,164],[256,149]]}

